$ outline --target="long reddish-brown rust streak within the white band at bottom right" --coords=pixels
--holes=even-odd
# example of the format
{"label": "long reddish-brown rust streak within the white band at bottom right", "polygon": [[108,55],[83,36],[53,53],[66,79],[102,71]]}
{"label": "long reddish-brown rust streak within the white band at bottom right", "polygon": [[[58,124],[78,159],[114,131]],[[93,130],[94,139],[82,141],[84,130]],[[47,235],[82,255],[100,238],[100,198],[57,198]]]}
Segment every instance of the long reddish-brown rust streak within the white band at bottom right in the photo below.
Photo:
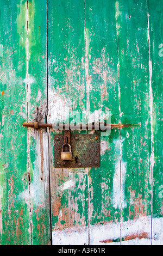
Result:
{"label": "long reddish-brown rust streak within the white band at bottom right", "polygon": [[[128,241],[128,240],[133,240],[133,239],[149,239],[149,234],[147,232],[142,232],[142,233],[136,233],[136,234],[131,234],[131,235],[127,235],[122,237],[122,241]],[[121,239],[120,237],[118,237],[117,239],[106,239],[106,240],[101,240],[99,242],[101,243],[111,243],[111,242],[120,242]]]}

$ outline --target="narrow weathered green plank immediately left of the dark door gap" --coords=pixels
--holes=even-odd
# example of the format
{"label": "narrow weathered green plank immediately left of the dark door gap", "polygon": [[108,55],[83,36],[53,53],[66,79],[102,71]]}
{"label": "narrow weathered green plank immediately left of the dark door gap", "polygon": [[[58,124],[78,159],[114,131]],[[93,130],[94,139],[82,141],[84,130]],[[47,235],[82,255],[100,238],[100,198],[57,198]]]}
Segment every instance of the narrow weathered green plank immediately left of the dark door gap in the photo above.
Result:
{"label": "narrow weathered green plank immediately left of the dark door gap", "polygon": [[[27,2],[26,2],[27,3]],[[47,1],[28,1],[27,101],[28,121],[46,122],[47,114]],[[32,244],[51,244],[48,133],[28,129]]]}

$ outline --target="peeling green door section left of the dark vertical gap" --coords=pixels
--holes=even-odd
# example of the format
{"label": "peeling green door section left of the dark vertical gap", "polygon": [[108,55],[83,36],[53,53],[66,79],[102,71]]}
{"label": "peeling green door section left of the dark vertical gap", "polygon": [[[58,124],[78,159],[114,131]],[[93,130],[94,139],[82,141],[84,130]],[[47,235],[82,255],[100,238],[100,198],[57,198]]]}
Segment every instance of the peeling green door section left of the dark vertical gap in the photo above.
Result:
{"label": "peeling green door section left of the dark vertical gap", "polygon": [[0,5],[0,243],[48,244],[48,147],[40,149],[41,139],[47,144],[47,138],[42,131],[22,126],[41,117],[33,110],[47,101],[46,2],[3,1]]}

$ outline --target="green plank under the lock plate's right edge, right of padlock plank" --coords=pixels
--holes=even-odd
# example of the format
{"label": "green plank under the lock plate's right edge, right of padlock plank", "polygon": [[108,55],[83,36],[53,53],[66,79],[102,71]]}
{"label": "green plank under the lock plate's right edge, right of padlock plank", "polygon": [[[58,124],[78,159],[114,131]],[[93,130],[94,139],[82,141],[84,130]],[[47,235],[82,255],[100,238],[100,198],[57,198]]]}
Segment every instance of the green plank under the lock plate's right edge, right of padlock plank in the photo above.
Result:
{"label": "green plank under the lock plate's right edge, right of padlock plank", "polygon": [[[111,123],[119,123],[115,1],[87,0],[85,19],[87,120],[91,112],[103,111],[109,117],[110,111]],[[92,245],[108,244],[113,239],[120,242],[121,236],[120,131],[112,130],[105,137],[101,132],[101,136],[101,167],[90,169],[89,181]],[[108,222],[110,225],[106,225]],[[114,222],[118,223],[116,227]]]}

